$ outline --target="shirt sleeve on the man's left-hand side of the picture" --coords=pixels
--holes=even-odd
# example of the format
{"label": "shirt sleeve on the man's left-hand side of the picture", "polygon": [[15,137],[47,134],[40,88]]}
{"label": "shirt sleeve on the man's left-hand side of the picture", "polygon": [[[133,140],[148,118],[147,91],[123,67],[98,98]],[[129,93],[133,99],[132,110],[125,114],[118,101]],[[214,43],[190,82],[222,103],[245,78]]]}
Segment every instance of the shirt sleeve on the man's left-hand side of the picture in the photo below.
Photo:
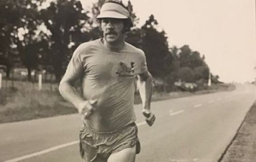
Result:
{"label": "shirt sleeve on the man's left-hand side of the picture", "polygon": [[66,76],[72,80],[78,80],[83,75],[84,67],[81,60],[79,47],[74,51],[66,69]]}

